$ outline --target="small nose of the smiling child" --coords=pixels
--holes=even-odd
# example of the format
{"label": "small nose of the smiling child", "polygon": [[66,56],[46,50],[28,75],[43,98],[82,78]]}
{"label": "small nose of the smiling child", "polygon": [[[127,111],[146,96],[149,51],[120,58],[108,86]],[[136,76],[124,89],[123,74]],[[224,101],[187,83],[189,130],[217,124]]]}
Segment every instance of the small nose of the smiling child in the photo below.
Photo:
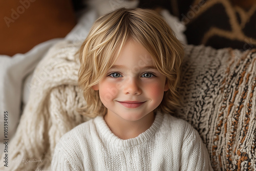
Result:
{"label": "small nose of the smiling child", "polygon": [[139,80],[131,77],[128,78],[125,81],[123,92],[124,94],[140,95],[142,90],[139,85]]}

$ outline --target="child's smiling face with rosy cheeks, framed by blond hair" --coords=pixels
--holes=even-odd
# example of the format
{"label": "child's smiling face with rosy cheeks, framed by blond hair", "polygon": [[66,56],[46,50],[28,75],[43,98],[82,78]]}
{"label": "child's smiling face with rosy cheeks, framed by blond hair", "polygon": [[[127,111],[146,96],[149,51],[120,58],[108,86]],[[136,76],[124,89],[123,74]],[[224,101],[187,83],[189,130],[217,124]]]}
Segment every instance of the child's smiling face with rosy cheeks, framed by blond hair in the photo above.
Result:
{"label": "child's smiling face with rosy cheeks, framed by blond hair", "polygon": [[93,89],[99,90],[100,99],[108,109],[107,115],[137,121],[153,114],[168,86],[150,53],[130,40],[124,44],[113,67]]}

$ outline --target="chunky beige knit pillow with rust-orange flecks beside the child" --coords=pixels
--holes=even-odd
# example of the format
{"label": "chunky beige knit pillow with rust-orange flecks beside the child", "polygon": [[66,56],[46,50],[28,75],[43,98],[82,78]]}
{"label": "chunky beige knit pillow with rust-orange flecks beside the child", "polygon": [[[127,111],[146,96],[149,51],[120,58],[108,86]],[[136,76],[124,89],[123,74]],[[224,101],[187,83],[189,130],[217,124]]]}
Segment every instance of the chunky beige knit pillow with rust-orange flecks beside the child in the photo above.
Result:
{"label": "chunky beige knit pillow with rust-orange flecks beside the child", "polygon": [[215,170],[256,170],[256,50],[187,46],[177,115],[198,130]]}

